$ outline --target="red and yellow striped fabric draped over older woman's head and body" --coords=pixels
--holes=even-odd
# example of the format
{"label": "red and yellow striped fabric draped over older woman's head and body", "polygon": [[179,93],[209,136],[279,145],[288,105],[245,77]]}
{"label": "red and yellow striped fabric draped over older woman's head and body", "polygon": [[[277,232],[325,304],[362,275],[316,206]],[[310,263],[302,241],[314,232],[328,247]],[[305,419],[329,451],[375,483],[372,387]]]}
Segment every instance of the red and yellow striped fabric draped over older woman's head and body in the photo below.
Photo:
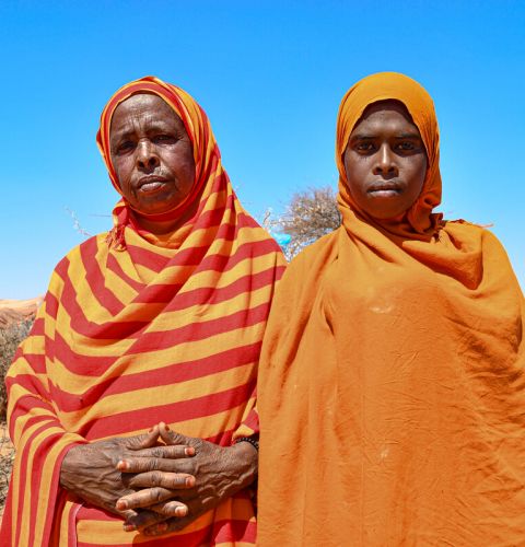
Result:
{"label": "red and yellow striped fabric draped over older woman's head and body", "polygon": [[88,240],[55,269],[7,380],[16,461],[2,545],[255,542],[247,491],[183,532],[154,539],[125,533],[119,517],[59,487],[63,455],[78,443],[143,433],[160,420],[223,446],[258,428],[256,368],[282,255],[240,205],[206,114],[158,79],[126,85],[103,113],[97,140],[115,187],[112,114],[143,91],[175,109],[194,147],[195,187],[167,217],[178,218],[195,200],[196,213],[173,233],[155,236],[120,200],[109,237]]}

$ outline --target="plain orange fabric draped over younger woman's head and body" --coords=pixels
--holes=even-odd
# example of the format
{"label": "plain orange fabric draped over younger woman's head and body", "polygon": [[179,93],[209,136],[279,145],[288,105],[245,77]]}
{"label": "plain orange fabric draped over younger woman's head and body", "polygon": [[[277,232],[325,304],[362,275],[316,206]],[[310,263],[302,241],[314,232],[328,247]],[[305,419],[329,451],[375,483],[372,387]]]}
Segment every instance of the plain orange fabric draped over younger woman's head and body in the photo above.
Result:
{"label": "plain orange fabric draped over younger woman's head and body", "polygon": [[[341,161],[384,98],[429,159],[396,223],[351,202]],[[292,261],[262,345],[258,545],[525,545],[525,305],[506,254],[433,212],[438,125],[409,78],[352,88],[336,147],[342,226]]]}

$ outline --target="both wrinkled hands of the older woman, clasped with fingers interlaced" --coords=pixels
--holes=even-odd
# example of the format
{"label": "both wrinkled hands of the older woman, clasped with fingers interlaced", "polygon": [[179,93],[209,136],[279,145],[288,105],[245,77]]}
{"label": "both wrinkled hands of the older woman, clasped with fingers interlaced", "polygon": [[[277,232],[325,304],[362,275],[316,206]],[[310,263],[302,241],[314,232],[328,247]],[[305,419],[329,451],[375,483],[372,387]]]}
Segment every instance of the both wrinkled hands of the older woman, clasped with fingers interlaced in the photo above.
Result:
{"label": "both wrinkled hands of the older woman, clasped with fingers interlaced", "polygon": [[161,422],[142,435],[73,446],[63,458],[60,485],[121,515],[126,531],[159,535],[184,528],[256,474],[250,444],[222,447]]}

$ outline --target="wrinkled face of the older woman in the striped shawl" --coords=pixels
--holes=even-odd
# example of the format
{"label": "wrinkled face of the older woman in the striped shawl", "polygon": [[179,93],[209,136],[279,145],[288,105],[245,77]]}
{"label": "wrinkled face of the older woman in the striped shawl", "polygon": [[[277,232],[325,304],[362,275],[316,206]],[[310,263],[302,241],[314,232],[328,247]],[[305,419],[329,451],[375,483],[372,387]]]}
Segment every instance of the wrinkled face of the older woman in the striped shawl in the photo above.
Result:
{"label": "wrinkled face of the older woman in the striped shawl", "polygon": [[122,195],[137,212],[167,212],[189,194],[191,141],[183,120],[158,95],[131,95],[117,106],[109,146]]}

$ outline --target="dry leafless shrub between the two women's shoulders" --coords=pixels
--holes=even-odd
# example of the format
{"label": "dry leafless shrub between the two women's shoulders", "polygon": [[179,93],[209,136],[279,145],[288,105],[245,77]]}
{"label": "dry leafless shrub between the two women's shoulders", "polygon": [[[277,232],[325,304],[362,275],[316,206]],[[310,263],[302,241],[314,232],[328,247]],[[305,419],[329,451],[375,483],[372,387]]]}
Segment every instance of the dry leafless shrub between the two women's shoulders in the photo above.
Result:
{"label": "dry leafless shrub between the two women's shoulders", "polygon": [[290,235],[291,241],[285,249],[287,258],[290,259],[323,235],[337,230],[340,224],[336,194],[327,186],[295,194],[284,214],[275,223],[275,230]]}

